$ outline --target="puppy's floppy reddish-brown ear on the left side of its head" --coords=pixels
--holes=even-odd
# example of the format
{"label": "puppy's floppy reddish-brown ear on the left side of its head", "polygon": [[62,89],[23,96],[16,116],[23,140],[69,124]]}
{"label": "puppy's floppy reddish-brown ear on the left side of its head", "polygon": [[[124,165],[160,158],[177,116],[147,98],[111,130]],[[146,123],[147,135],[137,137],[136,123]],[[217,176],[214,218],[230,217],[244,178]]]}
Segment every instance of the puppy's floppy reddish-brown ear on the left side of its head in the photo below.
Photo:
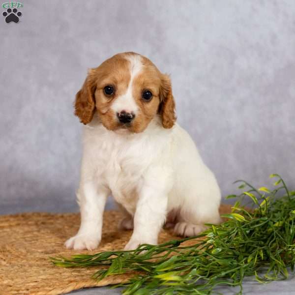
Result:
{"label": "puppy's floppy reddish-brown ear on the left side of its head", "polygon": [[91,80],[90,70],[82,88],[76,94],[75,115],[79,117],[80,122],[83,124],[91,122],[95,111],[95,87],[92,85]]}

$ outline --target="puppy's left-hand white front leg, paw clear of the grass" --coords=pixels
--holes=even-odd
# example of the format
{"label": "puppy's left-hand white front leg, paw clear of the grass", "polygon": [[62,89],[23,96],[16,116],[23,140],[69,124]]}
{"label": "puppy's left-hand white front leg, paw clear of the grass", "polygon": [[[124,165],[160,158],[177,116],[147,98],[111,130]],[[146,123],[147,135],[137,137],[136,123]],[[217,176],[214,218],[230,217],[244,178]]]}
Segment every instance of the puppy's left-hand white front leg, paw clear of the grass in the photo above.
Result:
{"label": "puppy's left-hand white front leg, paw clear of the grass", "polygon": [[65,242],[68,249],[93,250],[101,240],[102,217],[109,191],[97,188],[94,182],[81,185],[78,202],[81,210],[81,225],[76,236]]}

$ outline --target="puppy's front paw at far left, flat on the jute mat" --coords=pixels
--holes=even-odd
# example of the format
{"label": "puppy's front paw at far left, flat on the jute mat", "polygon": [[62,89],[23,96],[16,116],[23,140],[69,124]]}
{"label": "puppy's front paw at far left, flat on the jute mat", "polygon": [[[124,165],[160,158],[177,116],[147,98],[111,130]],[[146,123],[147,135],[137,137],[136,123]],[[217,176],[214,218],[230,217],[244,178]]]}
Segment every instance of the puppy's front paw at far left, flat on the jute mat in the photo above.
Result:
{"label": "puppy's front paw at far left, flat on the jute mat", "polygon": [[64,244],[67,249],[74,250],[93,250],[100,243],[100,239],[89,234],[77,234],[69,238]]}

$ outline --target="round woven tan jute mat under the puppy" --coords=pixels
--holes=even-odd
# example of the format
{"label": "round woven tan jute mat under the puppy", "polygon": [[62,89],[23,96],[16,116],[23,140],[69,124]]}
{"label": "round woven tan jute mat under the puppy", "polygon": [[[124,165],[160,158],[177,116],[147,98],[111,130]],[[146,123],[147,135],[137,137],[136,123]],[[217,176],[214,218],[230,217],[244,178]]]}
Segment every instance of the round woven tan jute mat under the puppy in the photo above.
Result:
{"label": "round woven tan jute mat under the puppy", "polygon": [[[230,206],[222,205],[220,211],[228,213]],[[99,247],[79,253],[122,249],[132,232],[118,230],[120,218],[120,212],[106,211]],[[77,254],[67,250],[64,241],[77,233],[79,225],[78,213],[0,216],[0,294],[58,295],[127,281],[132,274],[113,275],[97,282],[90,278],[96,268],[63,268],[50,262],[49,256]],[[171,230],[163,230],[159,242],[176,238]]]}

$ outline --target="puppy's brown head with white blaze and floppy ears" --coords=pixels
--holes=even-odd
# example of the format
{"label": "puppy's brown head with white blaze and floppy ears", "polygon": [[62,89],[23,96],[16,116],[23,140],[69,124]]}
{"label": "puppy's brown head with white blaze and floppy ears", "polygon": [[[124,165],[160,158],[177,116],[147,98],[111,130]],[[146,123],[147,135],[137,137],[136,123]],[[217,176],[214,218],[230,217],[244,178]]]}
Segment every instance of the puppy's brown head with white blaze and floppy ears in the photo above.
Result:
{"label": "puppy's brown head with white blaze and floppy ears", "polygon": [[170,78],[132,52],[117,54],[89,70],[76,94],[75,115],[88,124],[95,110],[109,130],[142,132],[157,114],[164,128],[176,120]]}

